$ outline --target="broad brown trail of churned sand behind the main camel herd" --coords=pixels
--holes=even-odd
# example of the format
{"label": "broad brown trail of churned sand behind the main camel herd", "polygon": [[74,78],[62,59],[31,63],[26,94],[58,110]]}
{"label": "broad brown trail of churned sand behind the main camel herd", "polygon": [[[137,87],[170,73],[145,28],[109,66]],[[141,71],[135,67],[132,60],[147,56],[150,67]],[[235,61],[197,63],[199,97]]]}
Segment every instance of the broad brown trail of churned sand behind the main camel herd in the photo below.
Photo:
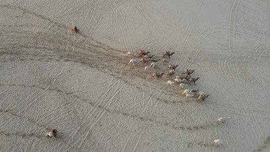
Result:
{"label": "broad brown trail of churned sand behind the main camel herd", "polygon": [[[27,12],[28,16],[30,15],[37,19],[46,20],[49,22],[48,24],[53,24],[55,26],[50,30],[52,33],[48,33],[48,30],[46,30],[46,32],[42,34],[34,34],[29,31],[22,31],[20,28],[16,28],[16,26],[9,25],[7,28],[14,28],[13,32],[16,34],[16,43],[12,46],[2,46],[3,51],[0,52],[2,55],[18,55],[20,56],[20,60],[25,60],[29,55],[32,55],[37,56],[38,60],[40,61],[56,60],[81,63],[83,65],[105,72],[114,78],[119,78],[131,86],[142,88],[140,84],[135,84],[130,81],[130,78],[133,77],[134,79],[140,79],[141,81],[149,82],[142,83],[147,87],[163,88],[163,90],[167,90],[164,81],[168,78],[163,77],[158,81],[155,79],[149,81],[152,73],[140,72],[142,71],[144,65],[128,65],[127,63],[129,62],[130,58],[123,56],[123,51],[110,48],[109,46],[92,39],[83,32],[74,34],[70,30],[70,27],[53,21],[42,15],[30,12],[27,9],[10,5],[0,5],[0,7],[17,10],[19,9],[21,11]],[[31,26],[35,28],[34,25]],[[44,26],[44,28],[47,29],[46,25]],[[68,30],[63,33],[63,29]],[[74,36],[80,36],[80,39],[73,39],[72,37]],[[25,40],[25,37],[27,37],[28,42],[23,41]],[[63,37],[66,38],[63,39]],[[43,45],[41,45],[40,42],[43,42]],[[10,49],[13,49],[14,51],[10,51]],[[34,49],[34,51],[29,54],[26,51],[15,51],[16,49]],[[159,57],[159,55],[157,55],[157,57]],[[160,55],[160,57],[162,57],[162,55]],[[135,56],[134,58],[137,60],[140,59],[139,56]],[[166,68],[164,67],[156,69],[158,72],[166,72],[165,70]],[[175,89],[166,91],[166,94],[178,96],[179,93],[178,90]]]}

